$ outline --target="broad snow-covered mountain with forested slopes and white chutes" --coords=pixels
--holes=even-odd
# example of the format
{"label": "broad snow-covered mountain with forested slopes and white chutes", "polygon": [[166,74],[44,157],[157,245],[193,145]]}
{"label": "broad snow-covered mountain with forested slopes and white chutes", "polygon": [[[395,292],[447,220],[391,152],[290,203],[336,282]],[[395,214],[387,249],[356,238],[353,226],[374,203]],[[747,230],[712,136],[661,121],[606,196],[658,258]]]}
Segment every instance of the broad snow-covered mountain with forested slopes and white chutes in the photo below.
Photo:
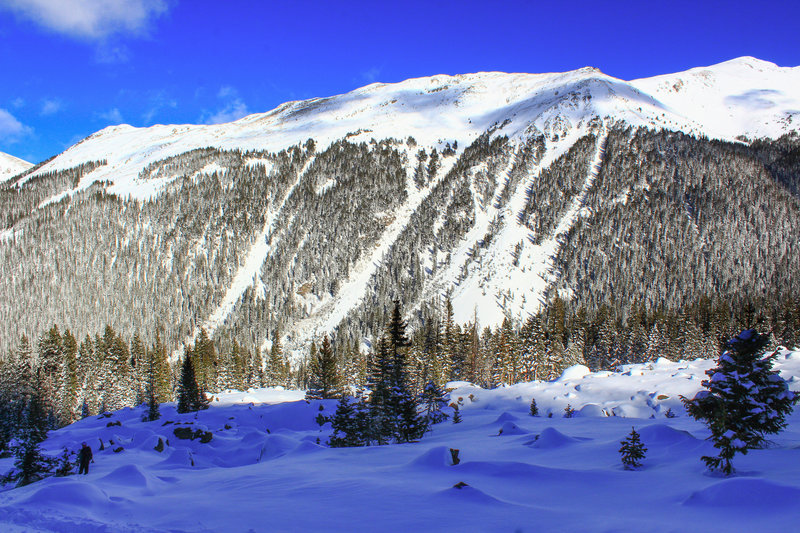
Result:
{"label": "broad snow-covered mountain with forested slopes and white chutes", "polygon": [[[796,137],[748,142],[796,133],[799,115],[800,67],[739,58],[630,82],[590,67],[440,75],[229,124],[106,128],[4,197],[0,294],[19,305],[0,339],[114,323],[265,347],[280,332],[302,348],[336,330],[363,340],[391,298],[419,314],[449,294],[458,322],[483,327],[524,319],[554,291],[655,307],[771,279],[785,290],[800,242],[788,222],[800,178],[784,157]],[[721,176],[748,190],[729,201]],[[737,201],[734,222],[702,209]],[[769,260],[729,257],[730,228],[758,247],[759,213],[773,211],[788,229]],[[663,231],[637,236],[653,217]],[[598,228],[617,233],[589,243]],[[652,283],[629,278],[648,269]],[[676,288],[681,269],[694,285]]]}

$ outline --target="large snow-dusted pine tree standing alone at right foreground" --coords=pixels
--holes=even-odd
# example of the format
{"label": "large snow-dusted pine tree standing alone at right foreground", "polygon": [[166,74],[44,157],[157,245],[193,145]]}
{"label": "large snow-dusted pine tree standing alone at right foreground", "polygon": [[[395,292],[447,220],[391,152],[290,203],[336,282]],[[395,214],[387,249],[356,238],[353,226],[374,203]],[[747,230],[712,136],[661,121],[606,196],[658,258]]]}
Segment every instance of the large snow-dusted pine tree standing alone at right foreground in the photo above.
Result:
{"label": "large snow-dusted pine tree standing alone at right foreground", "polygon": [[719,450],[719,456],[704,456],[703,461],[725,475],[733,471],[731,460],[737,453],[746,454],[761,446],[765,435],[786,427],[786,415],[798,400],[772,370],[777,353],[764,357],[768,343],[769,335],[742,331],[727,343],[717,366],[706,371],[705,390],[691,400],[682,398],[689,414],[711,430]]}

